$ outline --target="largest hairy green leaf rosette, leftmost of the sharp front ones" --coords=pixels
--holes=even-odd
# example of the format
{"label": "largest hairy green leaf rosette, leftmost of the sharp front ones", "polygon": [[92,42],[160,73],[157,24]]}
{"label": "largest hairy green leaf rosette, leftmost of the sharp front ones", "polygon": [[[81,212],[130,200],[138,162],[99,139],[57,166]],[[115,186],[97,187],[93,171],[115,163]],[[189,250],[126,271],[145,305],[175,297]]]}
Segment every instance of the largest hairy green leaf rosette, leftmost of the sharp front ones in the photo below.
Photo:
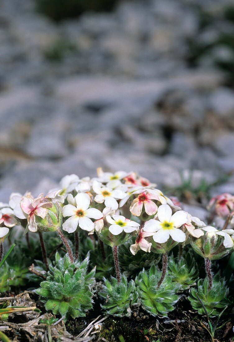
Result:
{"label": "largest hairy green leaf rosette, leftmost of the sharp front ones", "polygon": [[68,254],[61,258],[56,253],[55,265],[49,265],[46,281],[42,281],[41,287],[35,290],[47,311],[67,320],[69,316],[84,317],[92,308],[95,268],[87,273],[88,263],[89,254],[83,262],[71,263]]}

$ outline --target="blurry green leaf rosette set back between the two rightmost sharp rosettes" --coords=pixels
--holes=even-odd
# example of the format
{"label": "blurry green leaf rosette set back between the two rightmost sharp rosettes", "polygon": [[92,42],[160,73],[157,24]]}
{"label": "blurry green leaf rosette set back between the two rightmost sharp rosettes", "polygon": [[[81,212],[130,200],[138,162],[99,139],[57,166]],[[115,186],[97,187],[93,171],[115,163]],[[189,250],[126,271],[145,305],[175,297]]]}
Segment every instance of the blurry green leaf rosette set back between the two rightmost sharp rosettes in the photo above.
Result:
{"label": "blurry green leaf rosette set back between the two rightmost sharp rosettes", "polygon": [[182,290],[187,290],[196,285],[198,280],[198,267],[190,252],[181,258],[173,254],[168,259],[168,275],[171,280],[181,285]]}

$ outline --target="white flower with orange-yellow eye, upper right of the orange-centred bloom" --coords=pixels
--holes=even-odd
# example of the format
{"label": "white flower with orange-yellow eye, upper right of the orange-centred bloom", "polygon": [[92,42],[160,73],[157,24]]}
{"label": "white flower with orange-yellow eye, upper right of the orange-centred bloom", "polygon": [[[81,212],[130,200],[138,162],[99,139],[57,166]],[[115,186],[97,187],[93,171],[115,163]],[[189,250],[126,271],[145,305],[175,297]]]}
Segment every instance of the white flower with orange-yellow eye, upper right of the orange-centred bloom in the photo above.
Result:
{"label": "white flower with orange-yellow eye, upper right of the orange-centred bloom", "polygon": [[116,199],[122,199],[126,194],[121,190],[112,190],[107,186],[101,187],[101,185],[96,180],[93,181],[93,190],[97,194],[94,200],[97,203],[104,202],[106,207],[111,207],[112,210],[116,210],[119,207]]}

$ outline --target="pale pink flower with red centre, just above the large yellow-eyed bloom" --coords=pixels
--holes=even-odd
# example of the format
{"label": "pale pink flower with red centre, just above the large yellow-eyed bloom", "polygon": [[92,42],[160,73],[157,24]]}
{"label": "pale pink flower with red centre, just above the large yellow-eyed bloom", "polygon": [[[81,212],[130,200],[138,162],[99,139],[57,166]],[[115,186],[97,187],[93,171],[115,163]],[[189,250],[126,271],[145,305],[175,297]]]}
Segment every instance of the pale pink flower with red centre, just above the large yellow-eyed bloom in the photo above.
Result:
{"label": "pale pink flower with red centre, just above the large yellow-eyed bloom", "polygon": [[146,213],[150,216],[154,215],[157,211],[157,205],[152,201],[152,199],[158,200],[158,196],[149,194],[148,190],[147,192],[144,191],[140,193],[130,205],[130,212],[135,216],[140,216],[144,205],[144,210],[146,211]]}

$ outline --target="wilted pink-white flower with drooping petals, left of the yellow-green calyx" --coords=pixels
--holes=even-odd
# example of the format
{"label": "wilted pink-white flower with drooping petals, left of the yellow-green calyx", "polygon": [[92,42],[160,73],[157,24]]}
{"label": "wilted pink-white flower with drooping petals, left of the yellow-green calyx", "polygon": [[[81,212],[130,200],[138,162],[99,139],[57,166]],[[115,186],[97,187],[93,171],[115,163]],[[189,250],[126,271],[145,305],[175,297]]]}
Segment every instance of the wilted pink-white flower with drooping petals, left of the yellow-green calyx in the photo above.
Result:
{"label": "wilted pink-white flower with drooping petals, left of the yellow-green calyx", "polygon": [[23,197],[23,199],[15,206],[14,214],[19,219],[27,219],[27,228],[31,232],[37,231],[36,216],[45,218],[47,214],[46,208],[52,208],[53,203],[49,202],[49,198],[40,194],[37,198]]}

